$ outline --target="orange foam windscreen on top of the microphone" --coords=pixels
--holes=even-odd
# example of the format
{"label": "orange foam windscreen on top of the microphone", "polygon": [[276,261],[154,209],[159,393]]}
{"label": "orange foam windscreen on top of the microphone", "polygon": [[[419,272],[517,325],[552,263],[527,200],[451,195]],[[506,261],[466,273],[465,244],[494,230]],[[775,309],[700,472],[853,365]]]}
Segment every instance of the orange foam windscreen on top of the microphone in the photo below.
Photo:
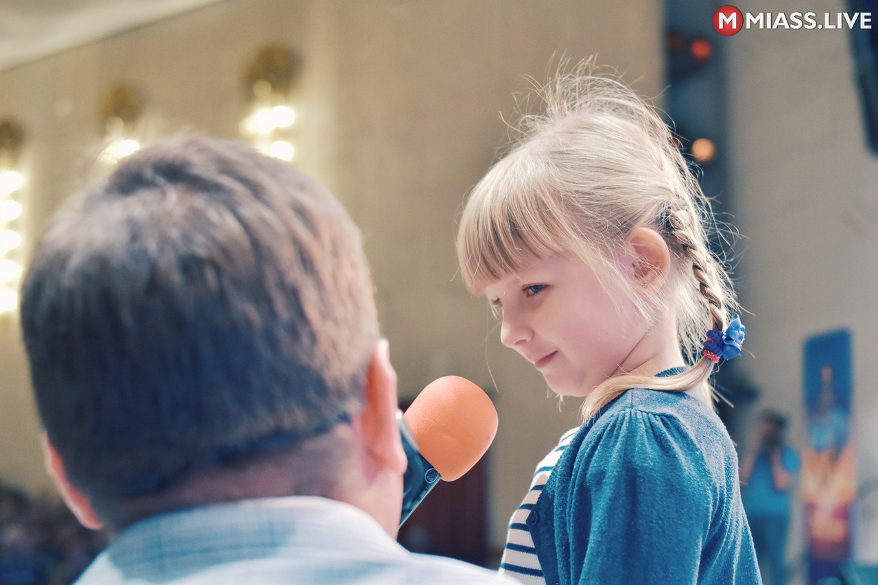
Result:
{"label": "orange foam windscreen on top of the microphone", "polygon": [[445,481],[479,462],[497,434],[497,410],[485,392],[460,376],[436,379],[406,414],[418,451]]}

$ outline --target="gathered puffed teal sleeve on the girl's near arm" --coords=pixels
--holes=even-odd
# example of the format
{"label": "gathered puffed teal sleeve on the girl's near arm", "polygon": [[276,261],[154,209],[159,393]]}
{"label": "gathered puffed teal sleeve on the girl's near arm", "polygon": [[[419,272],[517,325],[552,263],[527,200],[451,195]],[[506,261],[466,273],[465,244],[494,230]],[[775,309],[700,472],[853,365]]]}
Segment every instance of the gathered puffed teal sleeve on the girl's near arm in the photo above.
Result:
{"label": "gathered puffed teal sleeve on the girl's near arm", "polygon": [[673,415],[605,419],[572,461],[562,582],[696,582],[716,501],[702,451]]}

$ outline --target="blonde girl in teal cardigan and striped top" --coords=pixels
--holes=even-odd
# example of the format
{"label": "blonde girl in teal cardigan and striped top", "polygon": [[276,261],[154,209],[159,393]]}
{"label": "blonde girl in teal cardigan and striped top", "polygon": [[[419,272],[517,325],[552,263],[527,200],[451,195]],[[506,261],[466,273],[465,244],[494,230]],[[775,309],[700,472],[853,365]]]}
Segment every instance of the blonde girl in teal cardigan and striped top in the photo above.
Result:
{"label": "blonde girl in teal cardigan and striped top", "polygon": [[[709,204],[657,112],[584,73],[471,192],[457,236],[500,339],[585,423],[537,467],[501,571],[525,583],[759,583],[708,379],[744,327]],[[707,339],[707,341],[705,341]]]}

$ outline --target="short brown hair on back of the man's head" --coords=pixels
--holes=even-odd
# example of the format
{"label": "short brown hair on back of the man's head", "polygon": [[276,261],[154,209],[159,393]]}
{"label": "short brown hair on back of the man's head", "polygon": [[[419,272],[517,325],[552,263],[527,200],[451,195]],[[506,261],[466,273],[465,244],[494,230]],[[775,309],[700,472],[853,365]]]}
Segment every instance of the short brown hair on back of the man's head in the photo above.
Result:
{"label": "short brown hair on back of the man's head", "polygon": [[[165,141],[69,201],[21,310],[47,447],[99,515],[283,467],[313,441],[344,459],[338,429],[370,426],[370,379],[395,394],[356,226],[310,178],[232,142]],[[284,470],[288,489],[333,495],[335,461],[320,463],[313,480]]]}

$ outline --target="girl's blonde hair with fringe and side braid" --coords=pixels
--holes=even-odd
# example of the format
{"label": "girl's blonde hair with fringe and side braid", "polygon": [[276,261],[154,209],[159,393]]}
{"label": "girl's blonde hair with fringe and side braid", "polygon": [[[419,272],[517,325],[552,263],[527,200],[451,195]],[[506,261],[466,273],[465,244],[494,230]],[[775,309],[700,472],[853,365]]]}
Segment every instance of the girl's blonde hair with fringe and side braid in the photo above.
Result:
{"label": "girl's blonde hair with fringe and side braid", "polygon": [[632,387],[683,391],[708,383],[709,329],[725,329],[737,307],[723,263],[709,249],[715,229],[702,193],[665,122],[615,76],[591,61],[536,90],[543,112],[522,116],[521,138],[471,191],[457,234],[466,285],[486,285],[534,257],[577,257],[608,286],[625,278],[613,258],[634,227],[651,227],[673,258],[666,291],[630,300],[648,319],[676,315],[680,347],[692,367],[666,378],[621,374],[588,394],[586,419]]}

